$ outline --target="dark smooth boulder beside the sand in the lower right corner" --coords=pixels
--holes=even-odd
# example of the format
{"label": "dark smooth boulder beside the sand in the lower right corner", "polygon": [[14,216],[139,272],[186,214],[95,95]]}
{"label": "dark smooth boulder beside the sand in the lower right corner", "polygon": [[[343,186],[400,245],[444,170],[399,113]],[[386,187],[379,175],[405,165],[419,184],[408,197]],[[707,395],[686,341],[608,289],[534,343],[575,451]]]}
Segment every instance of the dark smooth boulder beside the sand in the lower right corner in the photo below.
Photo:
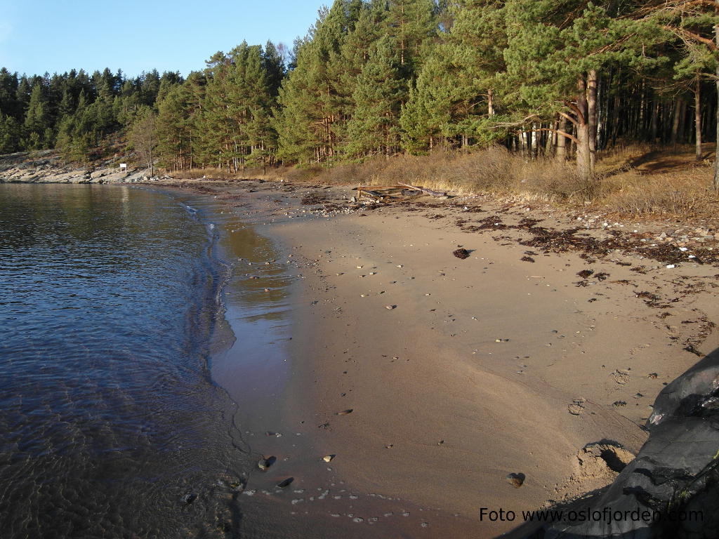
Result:
{"label": "dark smooth boulder beside the sand in the lower right corner", "polygon": [[612,484],[556,507],[562,520],[503,537],[719,537],[719,349],[659,393],[646,426],[649,439]]}

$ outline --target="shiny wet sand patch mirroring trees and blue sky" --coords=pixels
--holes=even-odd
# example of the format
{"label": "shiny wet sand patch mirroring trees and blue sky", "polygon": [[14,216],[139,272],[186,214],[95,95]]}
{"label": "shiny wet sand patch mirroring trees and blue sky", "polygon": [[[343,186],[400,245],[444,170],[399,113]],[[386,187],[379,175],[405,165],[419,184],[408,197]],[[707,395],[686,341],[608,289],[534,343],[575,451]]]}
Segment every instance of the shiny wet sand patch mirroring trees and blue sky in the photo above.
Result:
{"label": "shiny wet sand patch mirroring trees and blue sky", "polygon": [[290,367],[283,346],[290,338],[290,277],[273,241],[231,211],[215,218],[221,257],[232,265],[224,305],[234,345],[213,356],[212,377],[238,403],[237,423],[260,432],[280,420]]}

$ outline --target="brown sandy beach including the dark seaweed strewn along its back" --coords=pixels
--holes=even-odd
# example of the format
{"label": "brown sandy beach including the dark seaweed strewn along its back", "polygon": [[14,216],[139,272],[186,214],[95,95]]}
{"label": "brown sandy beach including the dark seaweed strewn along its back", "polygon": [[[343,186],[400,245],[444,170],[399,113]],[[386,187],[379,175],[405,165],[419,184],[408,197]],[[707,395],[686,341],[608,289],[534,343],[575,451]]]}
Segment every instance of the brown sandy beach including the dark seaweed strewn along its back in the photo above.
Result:
{"label": "brown sandy beach including the dark seaweed strewn along its back", "polygon": [[[481,198],[357,208],[349,187],[279,182],[201,191],[272,239],[268,262],[293,282],[285,391],[250,436],[290,462],[303,488],[288,512],[319,529],[493,537],[521,516],[482,508],[521,515],[604,487],[646,440],[657,393],[719,342],[715,243],[662,247],[661,223]],[[277,425],[295,439],[261,436]]]}

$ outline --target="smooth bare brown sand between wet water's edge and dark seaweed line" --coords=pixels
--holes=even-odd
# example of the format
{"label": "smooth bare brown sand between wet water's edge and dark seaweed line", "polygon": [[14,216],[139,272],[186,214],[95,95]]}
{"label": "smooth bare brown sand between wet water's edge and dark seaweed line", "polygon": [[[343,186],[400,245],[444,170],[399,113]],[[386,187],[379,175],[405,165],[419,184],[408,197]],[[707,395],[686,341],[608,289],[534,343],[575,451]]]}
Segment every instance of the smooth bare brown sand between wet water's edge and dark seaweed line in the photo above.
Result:
{"label": "smooth bare brown sand between wet water's edge and dark seaweed line", "polygon": [[[439,225],[454,208],[428,210],[448,211],[441,219],[400,206],[292,219],[286,214],[301,216],[302,206],[273,183],[204,188],[234,193],[235,211],[302,261],[289,349],[311,361],[293,361],[286,417],[317,454],[336,454],[333,469],[353,487],[439,509],[428,533],[453,525],[458,537],[498,535],[515,525],[477,522],[480,507],[531,510],[604,487],[616,472],[582,469],[577,453],[600,442],[636,453],[654,397],[696,362],[678,345],[693,338],[708,353],[717,344],[686,331],[703,323],[710,333],[717,319],[707,265],[682,268],[702,290],[662,303],[651,298],[677,292],[677,272],[632,272],[641,259],[631,254],[528,255],[520,229],[510,241],[491,236],[501,226],[467,234]],[[307,189],[319,190],[298,188]],[[321,191],[330,203],[350,193]],[[522,214],[500,216],[511,229]],[[473,250],[470,259],[452,257],[459,244]],[[587,268],[609,275],[577,276]],[[521,488],[508,484],[510,473],[526,475]]]}

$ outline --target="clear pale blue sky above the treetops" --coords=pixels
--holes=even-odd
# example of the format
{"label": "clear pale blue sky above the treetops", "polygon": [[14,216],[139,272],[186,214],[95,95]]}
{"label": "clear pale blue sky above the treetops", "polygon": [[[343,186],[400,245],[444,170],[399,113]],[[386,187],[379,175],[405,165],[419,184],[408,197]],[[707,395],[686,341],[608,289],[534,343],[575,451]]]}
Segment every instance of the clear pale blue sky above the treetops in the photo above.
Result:
{"label": "clear pale blue sky above the treetops", "polygon": [[288,47],[331,0],[0,0],[0,67],[28,75],[205,67],[242,40]]}

